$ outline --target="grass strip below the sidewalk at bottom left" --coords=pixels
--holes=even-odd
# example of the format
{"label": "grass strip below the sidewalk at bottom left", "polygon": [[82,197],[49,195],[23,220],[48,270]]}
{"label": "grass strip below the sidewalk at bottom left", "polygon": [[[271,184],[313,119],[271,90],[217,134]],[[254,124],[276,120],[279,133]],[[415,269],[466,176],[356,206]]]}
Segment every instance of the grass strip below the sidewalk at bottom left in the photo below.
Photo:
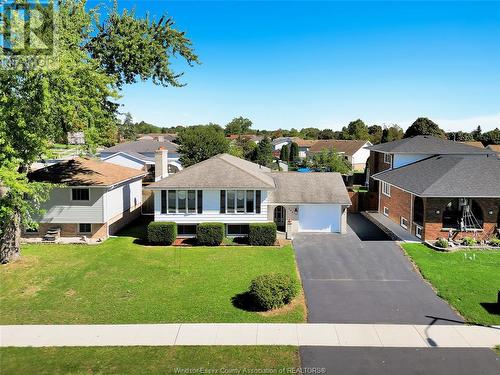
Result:
{"label": "grass strip below the sidewalk at bottom left", "polygon": [[290,346],[2,348],[0,356],[2,375],[181,374],[176,368],[278,373],[300,366],[298,350]]}

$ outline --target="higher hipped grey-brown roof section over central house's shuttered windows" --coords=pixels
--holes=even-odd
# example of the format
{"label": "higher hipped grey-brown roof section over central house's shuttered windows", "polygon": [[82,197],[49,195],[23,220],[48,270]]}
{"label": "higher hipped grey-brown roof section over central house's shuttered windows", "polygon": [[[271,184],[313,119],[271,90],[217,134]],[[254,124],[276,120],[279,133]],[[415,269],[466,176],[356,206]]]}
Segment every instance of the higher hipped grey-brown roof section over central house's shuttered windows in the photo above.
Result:
{"label": "higher hipped grey-brown roof section over central house's shuttered windows", "polygon": [[149,185],[151,189],[275,188],[270,169],[229,154],[216,155]]}

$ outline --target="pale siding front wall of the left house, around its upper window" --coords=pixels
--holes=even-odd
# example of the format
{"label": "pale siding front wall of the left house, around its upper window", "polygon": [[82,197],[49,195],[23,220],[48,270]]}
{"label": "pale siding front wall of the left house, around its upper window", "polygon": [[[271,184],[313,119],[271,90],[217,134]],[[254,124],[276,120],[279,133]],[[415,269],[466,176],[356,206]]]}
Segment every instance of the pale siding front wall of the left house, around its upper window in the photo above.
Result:
{"label": "pale siding front wall of the left house, around its upper window", "polygon": [[43,204],[46,213],[42,223],[104,223],[104,199],[106,188],[91,187],[90,200],[72,201],[71,188],[54,188]]}

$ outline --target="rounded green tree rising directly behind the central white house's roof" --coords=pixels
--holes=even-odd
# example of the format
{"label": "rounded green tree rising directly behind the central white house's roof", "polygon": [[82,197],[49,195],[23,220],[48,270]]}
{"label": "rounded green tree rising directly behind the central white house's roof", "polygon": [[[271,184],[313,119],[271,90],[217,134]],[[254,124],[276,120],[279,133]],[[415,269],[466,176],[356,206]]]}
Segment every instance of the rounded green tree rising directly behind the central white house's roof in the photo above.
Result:
{"label": "rounded green tree rising directly behind the central white house's roof", "polygon": [[196,125],[178,134],[180,162],[184,167],[199,163],[212,156],[229,152],[229,140],[222,128],[215,124]]}

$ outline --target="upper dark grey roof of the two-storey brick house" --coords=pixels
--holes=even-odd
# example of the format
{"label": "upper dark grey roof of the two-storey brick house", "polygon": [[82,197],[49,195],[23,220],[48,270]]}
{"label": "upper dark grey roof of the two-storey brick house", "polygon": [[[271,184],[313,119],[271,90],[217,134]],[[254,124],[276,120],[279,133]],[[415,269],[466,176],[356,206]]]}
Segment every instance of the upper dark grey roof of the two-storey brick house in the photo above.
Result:
{"label": "upper dark grey roof of the two-storey brick house", "polygon": [[491,154],[491,151],[469,146],[460,142],[449,141],[430,135],[418,135],[403,138],[393,142],[371,146],[372,151],[397,154],[424,154],[424,155],[470,155]]}

